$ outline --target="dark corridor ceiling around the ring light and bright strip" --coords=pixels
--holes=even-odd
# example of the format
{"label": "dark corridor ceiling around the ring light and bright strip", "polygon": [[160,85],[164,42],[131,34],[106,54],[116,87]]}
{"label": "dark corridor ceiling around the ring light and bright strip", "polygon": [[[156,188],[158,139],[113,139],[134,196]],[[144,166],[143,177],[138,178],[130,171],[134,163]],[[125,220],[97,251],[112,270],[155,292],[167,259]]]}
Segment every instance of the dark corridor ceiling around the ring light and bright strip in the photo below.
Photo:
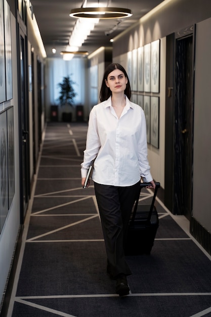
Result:
{"label": "dark corridor ceiling around the ring light and bright strip", "polygon": [[[101,46],[111,46],[110,39],[112,37],[129,28],[162,1],[87,0],[87,7],[97,7],[99,3],[101,7],[130,9],[133,15],[122,19],[101,19],[79,50],[88,51],[91,54]],[[43,39],[47,57],[61,57],[60,52],[66,50],[69,37],[77,20],[69,16],[70,10],[81,8],[82,3],[83,0],[31,0],[33,13]],[[114,30],[112,31],[113,28]],[[53,48],[57,50],[56,54],[52,53]]]}

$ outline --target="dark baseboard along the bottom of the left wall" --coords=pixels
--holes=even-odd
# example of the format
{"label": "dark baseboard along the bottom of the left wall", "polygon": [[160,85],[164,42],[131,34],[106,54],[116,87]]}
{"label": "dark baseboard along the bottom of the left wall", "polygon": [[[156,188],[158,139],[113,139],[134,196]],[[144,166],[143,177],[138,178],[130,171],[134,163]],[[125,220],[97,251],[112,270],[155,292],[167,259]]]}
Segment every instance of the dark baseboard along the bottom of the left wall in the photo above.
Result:
{"label": "dark baseboard along the bottom of the left wall", "polygon": [[5,286],[5,292],[4,296],[2,298],[1,306],[0,306],[0,317],[5,317],[7,316],[8,313],[8,308],[10,304],[10,298],[13,290],[13,285],[15,281],[15,274],[16,274],[16,268],[18,265],[18,259],[19,259],[19,254],[21,250],[21,245],[22,245],[22,234],[23,234],[23,225],[20,226],[18,235],[17,235],[17,240],[14,248],[14,253],[13,253],[13,258],[11,261],[11,267],[10,271],[8,273],[8,279],[7,283]]}

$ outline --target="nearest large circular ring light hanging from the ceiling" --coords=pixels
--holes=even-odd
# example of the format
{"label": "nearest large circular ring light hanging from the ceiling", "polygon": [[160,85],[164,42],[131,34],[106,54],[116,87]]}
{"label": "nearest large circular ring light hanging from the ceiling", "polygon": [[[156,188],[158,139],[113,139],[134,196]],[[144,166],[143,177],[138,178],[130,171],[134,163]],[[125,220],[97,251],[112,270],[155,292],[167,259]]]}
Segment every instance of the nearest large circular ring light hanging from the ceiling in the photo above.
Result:
{"label": "nearest large circular ring light hanging from the ceiling", "polygon": [[123,8],[79,8],[70,11],[70,17],[73,18],[98,18],[98,19],[116,19],[128,18],[133,15],[132,11]]}

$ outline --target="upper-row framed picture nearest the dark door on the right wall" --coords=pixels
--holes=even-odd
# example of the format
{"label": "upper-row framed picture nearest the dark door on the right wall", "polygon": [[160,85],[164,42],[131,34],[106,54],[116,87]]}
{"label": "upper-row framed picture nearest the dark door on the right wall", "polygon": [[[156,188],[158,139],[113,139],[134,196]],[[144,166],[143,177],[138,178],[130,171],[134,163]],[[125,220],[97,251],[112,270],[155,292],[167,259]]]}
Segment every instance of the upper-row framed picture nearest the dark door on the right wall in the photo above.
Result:
{"label": "upper-row framed picture nearest the dark door on the right wall", "polygon": [[151,92],[159,93],[160,84],[160,40],[151,43]]}

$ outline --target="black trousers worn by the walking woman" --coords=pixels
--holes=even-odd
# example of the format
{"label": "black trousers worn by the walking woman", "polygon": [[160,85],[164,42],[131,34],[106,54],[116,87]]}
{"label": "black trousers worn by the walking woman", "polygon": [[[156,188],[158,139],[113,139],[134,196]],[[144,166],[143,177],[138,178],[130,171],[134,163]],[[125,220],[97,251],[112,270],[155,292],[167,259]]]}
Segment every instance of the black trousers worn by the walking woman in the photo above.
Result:
{"label": "black trousers worn by the walking woman", "polygon": [[140,182],[119,187],[94,183],[107,253],[107,272],[115,278],[131,270],[124,257],[124,241]]}

